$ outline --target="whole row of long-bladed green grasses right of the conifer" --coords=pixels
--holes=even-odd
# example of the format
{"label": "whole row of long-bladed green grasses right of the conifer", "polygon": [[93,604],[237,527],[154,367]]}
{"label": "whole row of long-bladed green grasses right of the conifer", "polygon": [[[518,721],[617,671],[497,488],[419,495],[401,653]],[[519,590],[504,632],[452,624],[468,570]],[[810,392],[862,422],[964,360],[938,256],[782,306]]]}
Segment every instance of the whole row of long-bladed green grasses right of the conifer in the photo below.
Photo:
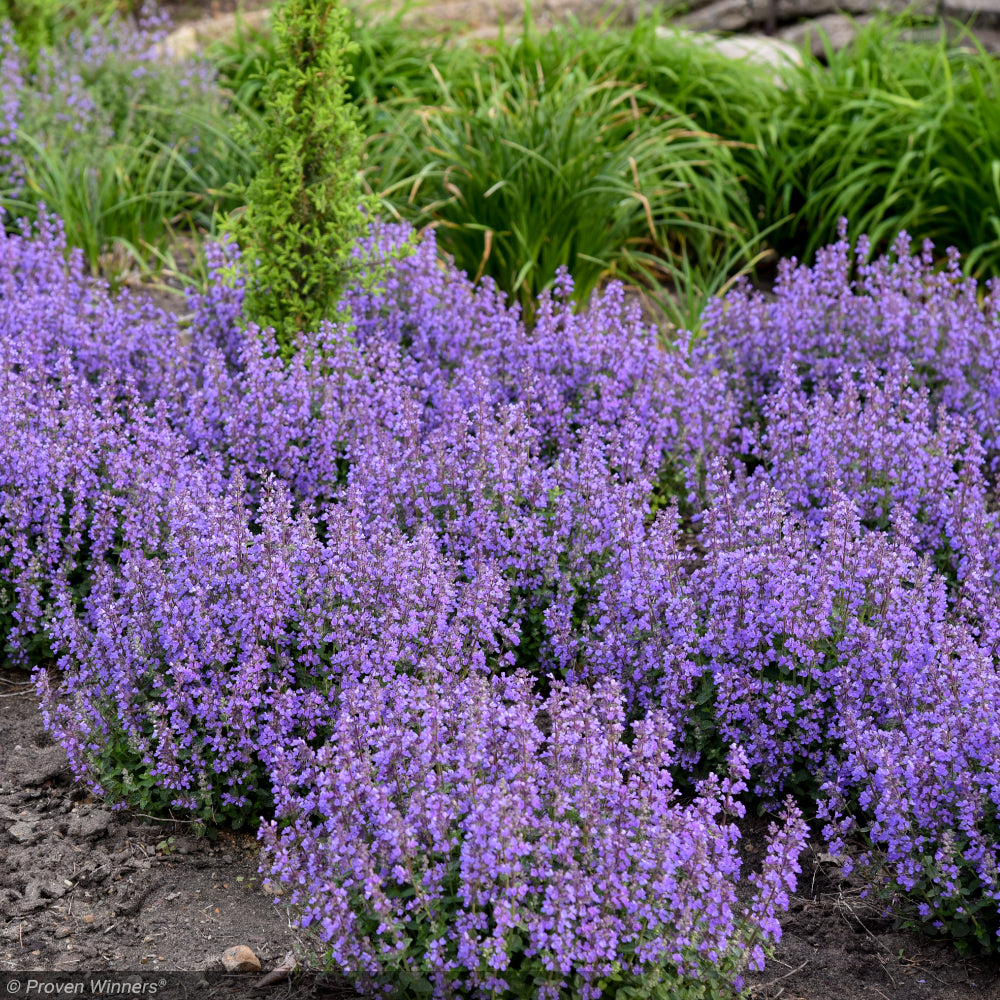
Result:
{"label": "whole row of long-bladed green grasses right of the conifer", "polygon": [[[958,246],[978,277],[1000,273],[1000,69],[975,45],[909,40],[912,25],[875,21],[779,81],[655,17],[548,32],[529,19],[476,46],[401,15],[361,24],[346,59],[372,136],[366,179],[387,211],[436,226],[471,275],[525,304],[562,261],[581,297],[616,274],[692,329],[707,297],[775,251],[808,259],[841,215],[852,236],[884,245],[906,228]],[[234,92],[263,107],[274,41],[244,35],[228,59]],[[657,173],[645,147],[671,123],[693,134],[667,144],[682,165]]]}

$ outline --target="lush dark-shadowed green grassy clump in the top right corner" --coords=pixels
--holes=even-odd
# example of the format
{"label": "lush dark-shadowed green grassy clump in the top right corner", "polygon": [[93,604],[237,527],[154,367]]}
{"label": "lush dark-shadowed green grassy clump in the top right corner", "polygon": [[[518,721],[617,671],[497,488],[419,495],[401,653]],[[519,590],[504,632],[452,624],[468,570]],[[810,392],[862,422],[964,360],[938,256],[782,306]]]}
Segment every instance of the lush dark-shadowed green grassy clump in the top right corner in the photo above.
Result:
{"label": "lush dark-shadowed green grassy clump in the top right corner", "polygon": [[743,138],[751,201],[783,254],[809,258],[867,233],[884,249],[905,229],[1000,273],[1000,69],[977,44],[908,40],[906,18],[877,20],[825,64],[808,54]]}

